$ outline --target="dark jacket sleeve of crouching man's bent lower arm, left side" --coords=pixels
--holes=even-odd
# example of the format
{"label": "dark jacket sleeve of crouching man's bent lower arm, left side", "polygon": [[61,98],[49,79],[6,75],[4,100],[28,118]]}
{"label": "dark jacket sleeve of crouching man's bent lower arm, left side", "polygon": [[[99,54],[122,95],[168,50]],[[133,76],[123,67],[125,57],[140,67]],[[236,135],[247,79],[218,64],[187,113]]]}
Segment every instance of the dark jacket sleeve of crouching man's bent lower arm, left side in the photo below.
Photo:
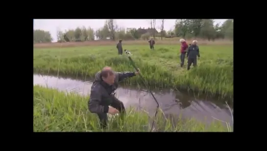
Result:
{"label": "dark jacket sleeve of crouching man's bent lower arm, left side", "polygon": [[99,86],[95,86],[91,90],[90,99],[88,101],[89,111],[92,113],[107,113],[109,107],[100,105],[101,102],[101,90]]}

